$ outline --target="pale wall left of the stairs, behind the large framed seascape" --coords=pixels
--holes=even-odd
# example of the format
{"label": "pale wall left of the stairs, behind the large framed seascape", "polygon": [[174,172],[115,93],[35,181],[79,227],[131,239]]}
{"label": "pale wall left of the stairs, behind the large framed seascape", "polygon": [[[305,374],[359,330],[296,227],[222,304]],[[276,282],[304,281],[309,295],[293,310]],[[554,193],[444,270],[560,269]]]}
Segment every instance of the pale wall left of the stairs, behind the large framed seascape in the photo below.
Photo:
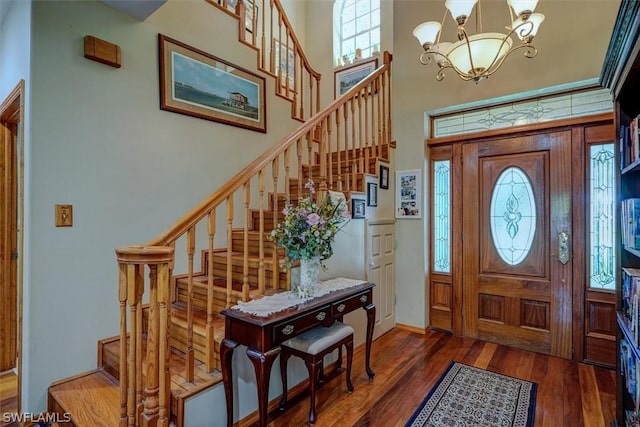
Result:
{"label": "pale wall left of the stairs, behind the large framed seascape", "polygon": [[[171,0],[145,22],[96,1],[32,7],[24,409],[39,412],[118,332],[114,248],[151,240],[298,123],[271,77],[266,135],[159,109],[158,33],[256,69],[237,21],[206,2]],[[88,34],[119,45],[122,68],[85,59]],[[54,226],[55,204],[73,205],[73,227]]]}

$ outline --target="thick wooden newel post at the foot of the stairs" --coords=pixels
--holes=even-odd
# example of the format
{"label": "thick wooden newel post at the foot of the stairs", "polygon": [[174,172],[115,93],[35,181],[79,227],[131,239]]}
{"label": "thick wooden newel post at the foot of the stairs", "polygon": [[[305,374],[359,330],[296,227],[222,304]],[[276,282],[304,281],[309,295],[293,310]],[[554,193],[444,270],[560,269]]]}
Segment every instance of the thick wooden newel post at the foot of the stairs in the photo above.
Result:
{"label": "thick wooden newel post at the foot of the stairs", "polygon": [[[168,246],[116,249],[120,301],[120,427],[169,425],[169,266],[173,253],[174,249]],[[149,315],[143,384],[145,266],[149,270]]]}

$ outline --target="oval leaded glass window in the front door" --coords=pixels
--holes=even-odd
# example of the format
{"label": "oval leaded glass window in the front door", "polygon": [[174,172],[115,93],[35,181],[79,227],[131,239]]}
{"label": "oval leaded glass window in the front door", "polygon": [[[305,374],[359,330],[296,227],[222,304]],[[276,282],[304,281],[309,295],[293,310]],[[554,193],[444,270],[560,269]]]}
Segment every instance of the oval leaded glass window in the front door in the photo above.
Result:
{"label": "oval leaded glass window in the front door", "polygon": [[515,166],[496,180],[489,207],[491,236],[498,255],[509,265],[529,254],[536,232],[536,204],[531,181]]}

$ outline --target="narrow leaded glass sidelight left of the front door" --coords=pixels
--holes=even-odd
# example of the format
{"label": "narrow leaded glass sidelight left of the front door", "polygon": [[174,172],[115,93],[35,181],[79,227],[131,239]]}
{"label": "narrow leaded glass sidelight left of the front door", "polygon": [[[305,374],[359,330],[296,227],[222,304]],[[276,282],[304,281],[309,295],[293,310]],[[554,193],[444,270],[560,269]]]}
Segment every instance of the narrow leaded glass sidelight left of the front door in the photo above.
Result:
{"label": "narrow leaded glass sidelight left of the front door", "polygon": [[433,162],[433,270],[451,272],[451,161]]}

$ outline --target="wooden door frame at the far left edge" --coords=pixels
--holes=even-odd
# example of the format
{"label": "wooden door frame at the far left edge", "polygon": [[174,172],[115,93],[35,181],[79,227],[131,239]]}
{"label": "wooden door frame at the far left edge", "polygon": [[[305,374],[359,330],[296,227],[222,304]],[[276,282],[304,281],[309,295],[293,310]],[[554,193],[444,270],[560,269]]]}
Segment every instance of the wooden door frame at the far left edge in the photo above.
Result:
{"label": "wooden door frame at the far left edge", "polygon": [[[12,146],[5,153],[9,152],[14,165],[11,168],[11,176],[2,178],[2,185],[15,184],[11,191],[16,194],[9,200],[8,210],[17,211],[16,222],[5,229],[0,230],[3,241],[15,239],[15,249],[17,253],[17,263],[15,266],[16,276],[16,358],[17,358],[17,409],[21,409],[22,398],[22,316],[23,316],[23,253],[24,253],[24,103],[25,103],[25,82],[20,80],[18,85],[0,104],[0,138],[11,141]],[[4,189],[6,191],[6,189]],[[15,205],[14,205],[15,203]],[[11,215],[13,212],[9,212]],[[11,261],[11,260],[10,260]],[[5,266],[1,268],[6,268]]]}

